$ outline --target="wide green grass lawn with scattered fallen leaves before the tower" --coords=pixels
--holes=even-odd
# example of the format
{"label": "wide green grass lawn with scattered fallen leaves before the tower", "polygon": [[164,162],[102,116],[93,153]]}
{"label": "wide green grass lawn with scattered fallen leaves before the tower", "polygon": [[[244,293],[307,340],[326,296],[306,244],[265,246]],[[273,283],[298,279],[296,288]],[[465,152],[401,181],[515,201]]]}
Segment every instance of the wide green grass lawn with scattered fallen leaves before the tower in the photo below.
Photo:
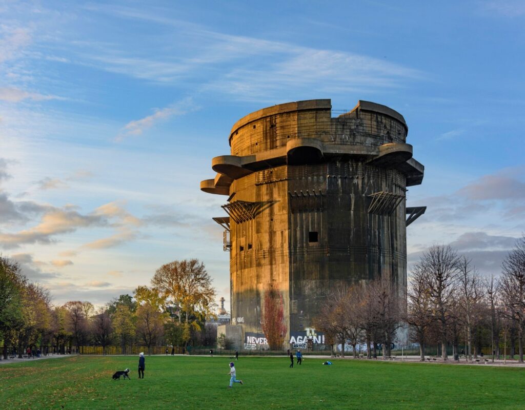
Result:
{"label": "wide green grass lawn with scattered fallen leaves before the tower", "polygon": [[[523,409],[525,369],[285,357],[72,356],[0,366],[0,408],[17,409]],[[111,380],[129,367],[131,381]]]}

